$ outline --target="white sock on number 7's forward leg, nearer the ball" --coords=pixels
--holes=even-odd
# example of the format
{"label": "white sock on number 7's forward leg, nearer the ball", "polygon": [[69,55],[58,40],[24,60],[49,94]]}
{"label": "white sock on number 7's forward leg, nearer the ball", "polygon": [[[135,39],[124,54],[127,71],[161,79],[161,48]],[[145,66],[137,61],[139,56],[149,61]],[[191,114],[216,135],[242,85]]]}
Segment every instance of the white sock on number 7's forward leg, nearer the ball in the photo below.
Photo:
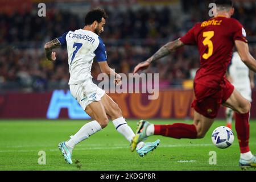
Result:
{"label": "white sock on number 7's forward leg, nearer the ball", "polygon": [[[131,130],[131,127],[125,121],[125,118],[120,117],[120,118],[114,119],[113,124],[114,124],[115,129],[131,143],[131,139],[133,139],[135,134],[134,134],[133,130]],[[138,149],[142,148],[143,146],[144,146],[144,142],[139,142],[137,144]]]}

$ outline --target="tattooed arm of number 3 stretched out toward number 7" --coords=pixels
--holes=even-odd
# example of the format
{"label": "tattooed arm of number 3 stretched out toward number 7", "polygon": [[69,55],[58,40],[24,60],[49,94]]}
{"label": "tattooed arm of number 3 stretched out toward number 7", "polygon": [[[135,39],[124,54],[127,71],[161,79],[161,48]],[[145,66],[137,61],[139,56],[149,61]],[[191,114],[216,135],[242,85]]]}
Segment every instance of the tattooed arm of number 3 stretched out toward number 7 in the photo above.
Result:
{"label": "tattooed arm of number 3 stretched out toward number 7", "polygon": [[147,69],[150,66],[152,61],[156,61],[164,56],[169,55],[171,52],[176,51],[177,48],[184,46],[183,42],[180,39],[177,39],[173,42],[169,42],[161,47],[154,55],[148,58],[146,61],[139,63],[135,68],[133,73],[137,73],[139,70]]}

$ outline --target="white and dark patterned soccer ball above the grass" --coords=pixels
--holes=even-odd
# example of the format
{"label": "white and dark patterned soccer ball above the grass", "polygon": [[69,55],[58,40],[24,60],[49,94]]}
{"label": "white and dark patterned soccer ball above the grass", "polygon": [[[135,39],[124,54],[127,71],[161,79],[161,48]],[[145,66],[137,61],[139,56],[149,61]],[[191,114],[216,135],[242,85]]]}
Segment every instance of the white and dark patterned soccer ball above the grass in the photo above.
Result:
{"label": "white and dark patterned soccer ball above the grass", "polygon": [[218,148],[228,148],[234,142],[234,134],[226,126],[217,127],[212,133],[212,142]]}

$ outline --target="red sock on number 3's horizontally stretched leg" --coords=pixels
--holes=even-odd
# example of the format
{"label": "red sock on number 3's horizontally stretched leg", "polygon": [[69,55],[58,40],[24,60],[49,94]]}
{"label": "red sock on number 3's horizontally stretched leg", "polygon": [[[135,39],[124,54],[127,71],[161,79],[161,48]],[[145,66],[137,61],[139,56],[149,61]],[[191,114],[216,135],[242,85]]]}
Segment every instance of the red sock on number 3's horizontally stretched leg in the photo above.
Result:
{"label": "red sock on number 3's horizontally stretched leg", "polygon": [[174,123],[173,125],[154,125],[155,135],[163,135],[172,138],[197,138],[195,125]]}

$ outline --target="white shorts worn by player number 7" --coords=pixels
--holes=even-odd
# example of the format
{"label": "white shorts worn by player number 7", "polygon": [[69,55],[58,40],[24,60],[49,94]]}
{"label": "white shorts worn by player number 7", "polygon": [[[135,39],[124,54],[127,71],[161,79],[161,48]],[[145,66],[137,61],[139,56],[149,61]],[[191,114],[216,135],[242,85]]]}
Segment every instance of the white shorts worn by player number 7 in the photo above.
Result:
{"label": "white shorts worn by player number 7", "polygon": [[72,96],[84,110],[93,101],[100,101],[101,97],[105,94],[105,90],[98,88],[93,83],[92,78],[88,78],[88,80],[81,84],[69,85],[69,88]]}

